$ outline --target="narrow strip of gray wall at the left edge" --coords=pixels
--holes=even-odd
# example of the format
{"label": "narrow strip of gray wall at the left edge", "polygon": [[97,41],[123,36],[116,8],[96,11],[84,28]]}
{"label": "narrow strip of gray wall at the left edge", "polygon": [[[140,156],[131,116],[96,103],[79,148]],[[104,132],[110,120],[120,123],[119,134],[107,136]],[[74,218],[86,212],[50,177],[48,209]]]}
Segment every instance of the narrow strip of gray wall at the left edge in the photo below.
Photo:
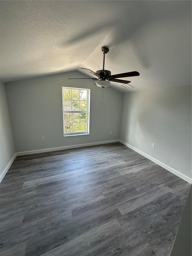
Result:
{"label": "narrow strip of gray wall at the left edge", "polygon": [[0,176],[15,155],[7,96],[4,83],[0,82]]}

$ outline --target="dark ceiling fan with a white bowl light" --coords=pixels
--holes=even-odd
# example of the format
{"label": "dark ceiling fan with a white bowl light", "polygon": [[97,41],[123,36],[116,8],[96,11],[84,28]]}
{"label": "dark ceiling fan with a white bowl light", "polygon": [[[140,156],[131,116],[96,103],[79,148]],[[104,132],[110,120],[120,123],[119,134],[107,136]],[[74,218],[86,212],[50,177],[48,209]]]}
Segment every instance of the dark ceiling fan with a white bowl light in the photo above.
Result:
{"label": "dark ceiling fan with a white bowl light", "polygon": [[92,75],[95,75],[98,78],[68,78],[68,79],[93,79],[96,80],[95,84],[101,88],[107,87],[110,85],[110,82],[117,82],[117,83],[122,83],[125,88],[127,87],[133,87],[131,85],[126,85],[128,83],[131,83],[131,81],[127,80],[120,80],[117,78],[122,78],[122,77],[135,77],[139,76],[140,73],[137,71],[132,71],[132,72],[127,72],[127,73],[122,73],[122,74],[115,74],[111,75],[111,71],[104,69],[105,66],[105,55],[109,52],[109,49],[105,46],[101,47],[102,53],[103,53],[103,69],[98,70],[96,72],[87,69],[87,68],[81,68],[84,71],[89,72]]}

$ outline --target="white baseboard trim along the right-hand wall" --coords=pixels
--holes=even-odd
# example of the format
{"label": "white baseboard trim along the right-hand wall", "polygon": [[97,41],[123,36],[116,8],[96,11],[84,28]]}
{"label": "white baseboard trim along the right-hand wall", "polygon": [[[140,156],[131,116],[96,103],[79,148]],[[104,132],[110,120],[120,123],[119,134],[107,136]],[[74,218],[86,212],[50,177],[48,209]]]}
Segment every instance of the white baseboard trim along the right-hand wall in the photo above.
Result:
{"label": "white baseboard trim along the right-hand wall", "polygon": [[139,149],[136,149],[135,147],[129,145],[128,143],[122,141],[122,140],[119,140],[120,143],[124,144],[125,146],[127,146],[128,148],[130,149],[133,149],[134,151],[136,151],[137,153],[139,153],[140,155],[143,155],[145,156],[146,158],[148,158],[149,160],[153,161],[155,164],[158,164],[160,165],[161,167],[163,167],[164,169],[170,171],[171,173],[175,174],[176,176],[178,176],[179,178],[182,178],[184,179],[185,181],[189,182],[190,184],[192,183],[192,179],[188,176],[186,176],[185,174],[183,173],[180,173],[179,171],[173,169],[172,167],[168,166],[167,164],[164,164],[162,163],[161,161],[153,158],[152,156],[150,155],[147,155],[146,153],[144,153],[143,151],[139,150]]}

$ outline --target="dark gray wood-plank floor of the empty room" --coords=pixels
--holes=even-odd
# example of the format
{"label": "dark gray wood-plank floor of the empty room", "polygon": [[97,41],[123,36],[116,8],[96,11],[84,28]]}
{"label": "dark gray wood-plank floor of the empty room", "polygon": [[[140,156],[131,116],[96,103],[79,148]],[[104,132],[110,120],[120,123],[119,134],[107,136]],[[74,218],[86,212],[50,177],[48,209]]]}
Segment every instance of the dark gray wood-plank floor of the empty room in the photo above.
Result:
{"label": "dark gray wood-plank floor of the empty room", "polygon": [[121,143],[19,156],[0,184],[0,255],[168,256],[189,190]]}

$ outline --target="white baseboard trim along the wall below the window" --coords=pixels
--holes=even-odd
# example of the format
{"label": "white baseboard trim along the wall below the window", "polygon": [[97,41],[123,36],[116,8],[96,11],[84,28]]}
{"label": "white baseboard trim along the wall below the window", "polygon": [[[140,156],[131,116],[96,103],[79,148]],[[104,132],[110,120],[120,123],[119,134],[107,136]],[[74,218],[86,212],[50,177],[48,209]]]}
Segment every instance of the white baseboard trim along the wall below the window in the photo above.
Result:
{"label": "white baseboard trim along the wall below the window", "polygon": [[22,151],[22,152],[17,152],[17,155],[31,155],[31,154],[38,154],[38,153],[44,153],[44,152],[64,150],[64,149],[75,149],[75,148],[81,148],[81,147],[108,144],[108,143],[114,143],[114,142],[119,142],[119,140],[106,140],[106,141],[91,142],[91,143],[77,144],[77,145],[71,145],[71,146],[62,146],[62,147],[49,148],[49,149]]}

